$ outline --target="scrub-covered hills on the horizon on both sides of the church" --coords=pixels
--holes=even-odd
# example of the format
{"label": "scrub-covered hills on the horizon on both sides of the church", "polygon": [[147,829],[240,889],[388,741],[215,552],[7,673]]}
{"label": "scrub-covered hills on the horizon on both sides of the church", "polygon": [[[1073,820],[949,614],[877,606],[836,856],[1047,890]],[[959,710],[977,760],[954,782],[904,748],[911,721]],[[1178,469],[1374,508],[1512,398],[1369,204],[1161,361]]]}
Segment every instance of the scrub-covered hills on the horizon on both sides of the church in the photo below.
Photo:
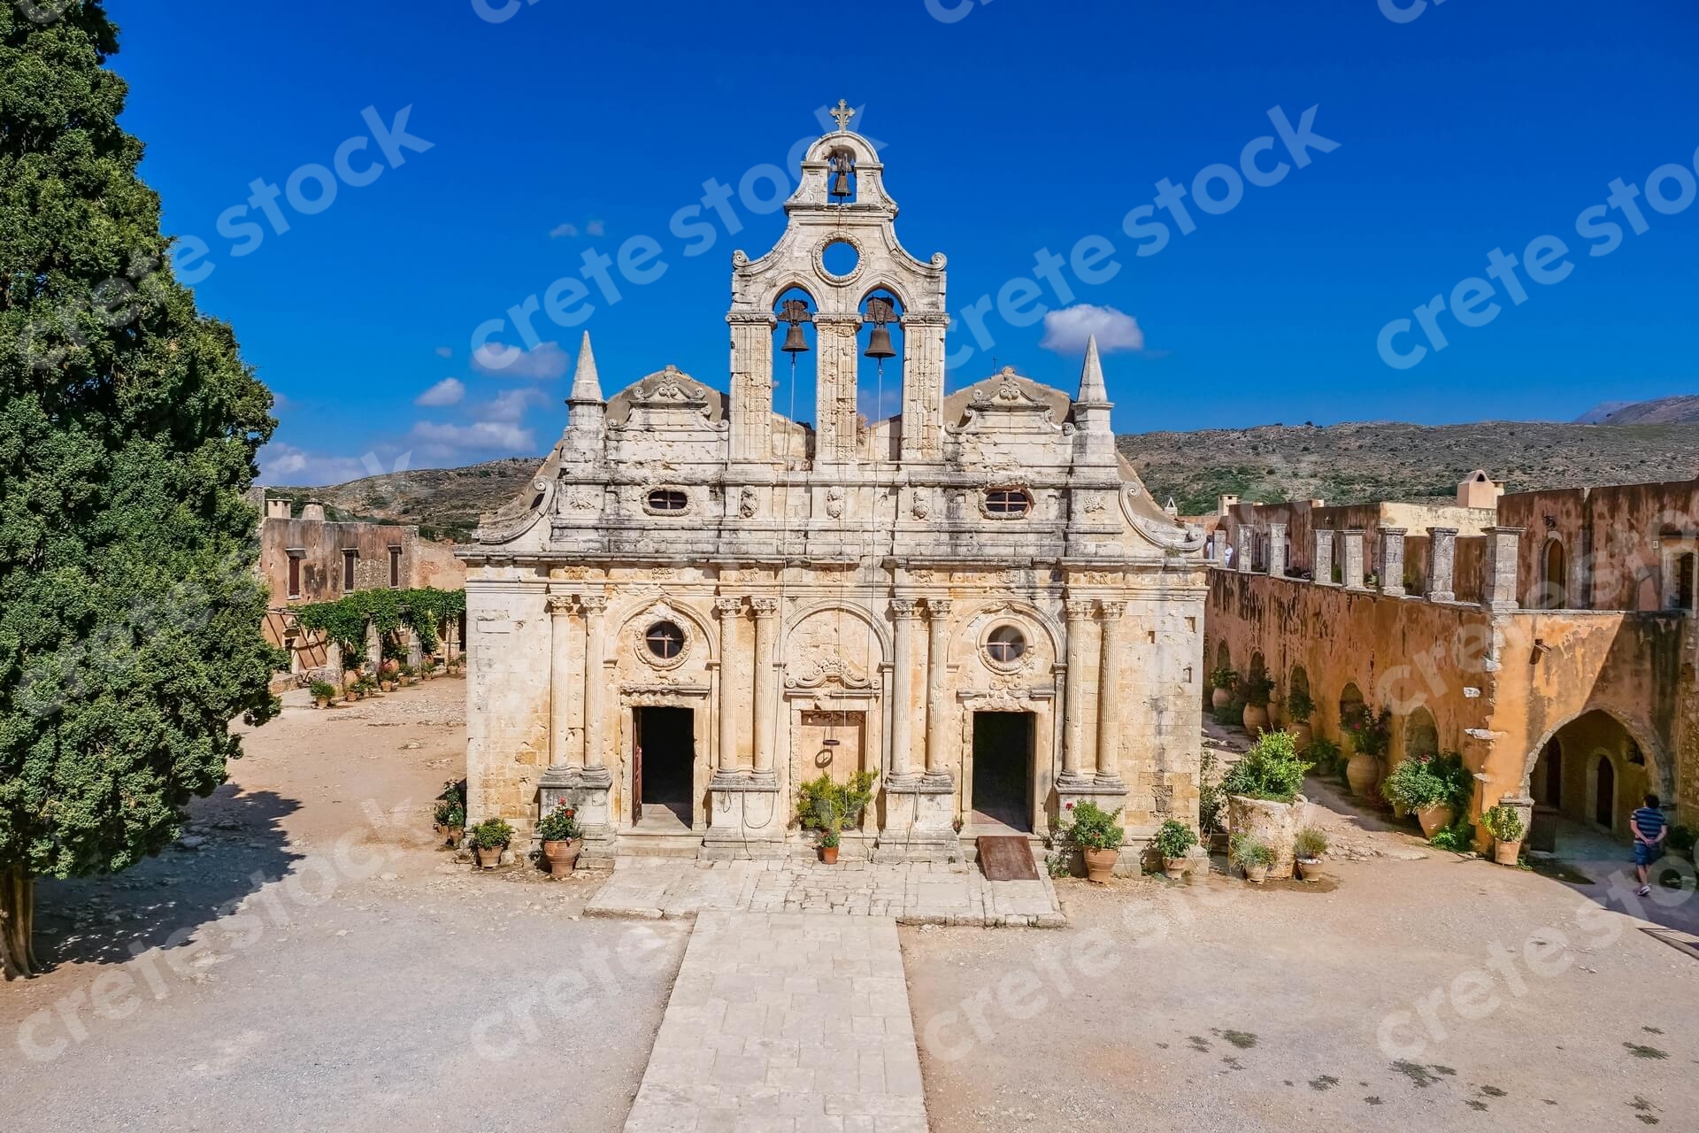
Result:
{"label": "scrub-covered hills on the horizon on both sides of the church", "polygon": [[[1453,498],[1458,481],[1475,469],[1505,481],[1507,491],[1699,474],[1699,423],[1264,425],[1133,433],[1120,437],[1116,445],[1143,476],[1150,494],[1159,503],[1172,496],[1181,515],[1213,511],[1220,494],[1334,504]],[[466,542],[477,516],[516,496],[540,464],[542,457],[518,457],[462,469],[389,472],[328,488],[268,488],[267,494],[292,499],[297,515],[299,504],[318,499],[331,518],[416,523],[426,537]]]}

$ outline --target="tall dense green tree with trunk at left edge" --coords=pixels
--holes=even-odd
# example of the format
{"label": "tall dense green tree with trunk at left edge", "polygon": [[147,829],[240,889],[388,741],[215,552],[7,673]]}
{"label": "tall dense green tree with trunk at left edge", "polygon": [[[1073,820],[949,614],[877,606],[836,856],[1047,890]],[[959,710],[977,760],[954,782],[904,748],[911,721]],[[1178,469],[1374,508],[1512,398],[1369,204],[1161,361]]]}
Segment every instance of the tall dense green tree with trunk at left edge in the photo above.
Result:
{"label": "tall dense green tree with trunk at left edge", "polygon": [[[39,10],[39,8],[37,8]],[[257,513],[270,392],[172,275],[117,126],[117,29],[0,5],[0,963],[34,967],[34,878],[116,871],[182,829],[274,712]]]}

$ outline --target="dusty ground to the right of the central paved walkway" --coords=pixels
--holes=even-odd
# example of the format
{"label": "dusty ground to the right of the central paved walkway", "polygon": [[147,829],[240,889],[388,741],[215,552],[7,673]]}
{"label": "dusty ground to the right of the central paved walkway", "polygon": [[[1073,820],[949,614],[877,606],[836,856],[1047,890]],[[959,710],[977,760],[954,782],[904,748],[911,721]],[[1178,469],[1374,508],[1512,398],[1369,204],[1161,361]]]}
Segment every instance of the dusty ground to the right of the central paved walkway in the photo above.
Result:
{"label": "dusty ground to the right of the central paved walkway", "polygon": [[1310,793],[1320,883],[1065,880],[1057,933],[902,929],[933,1130],[1699,1130],[1699,960],[1604,885]]}

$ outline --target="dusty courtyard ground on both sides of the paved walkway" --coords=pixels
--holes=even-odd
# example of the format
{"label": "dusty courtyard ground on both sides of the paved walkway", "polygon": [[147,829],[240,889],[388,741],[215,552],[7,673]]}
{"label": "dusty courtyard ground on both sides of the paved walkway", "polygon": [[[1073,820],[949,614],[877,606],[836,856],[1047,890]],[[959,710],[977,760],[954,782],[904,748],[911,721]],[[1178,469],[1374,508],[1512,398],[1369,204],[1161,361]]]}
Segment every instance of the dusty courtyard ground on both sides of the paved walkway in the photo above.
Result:
{"label": "dusty courtyard ground on both sides of the paved walkway", "polygon": [[[584,917],[598,878],[433,849],[464,695],[291,705],[185,848],[44,885],[54,967],[0,987],[0,1128],[624,1128],[690,921]],[[1064,929],[900,927],[929,1128],[1699,1128],[1699,960],[1602,885],[1315,793],[1317,885],[1064,880]]]}

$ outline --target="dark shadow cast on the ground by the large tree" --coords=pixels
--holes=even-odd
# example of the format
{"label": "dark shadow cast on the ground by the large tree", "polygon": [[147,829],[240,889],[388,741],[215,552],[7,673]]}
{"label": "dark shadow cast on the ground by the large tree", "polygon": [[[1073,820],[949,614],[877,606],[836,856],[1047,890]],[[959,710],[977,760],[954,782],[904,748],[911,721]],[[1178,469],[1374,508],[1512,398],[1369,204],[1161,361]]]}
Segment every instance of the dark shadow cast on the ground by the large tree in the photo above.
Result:
{"label": "dark shadow cast on the ground by the large tree", "polygon": [[[282,819],[301,809],[272,792],[226,783],[189,807],[183,841],[122,873],[36,885],[36,955],[42,970],[66,963],[127,963],[189,936],[304,854],[287,848]],[[197,841],[199,839],[199,841]]]}

